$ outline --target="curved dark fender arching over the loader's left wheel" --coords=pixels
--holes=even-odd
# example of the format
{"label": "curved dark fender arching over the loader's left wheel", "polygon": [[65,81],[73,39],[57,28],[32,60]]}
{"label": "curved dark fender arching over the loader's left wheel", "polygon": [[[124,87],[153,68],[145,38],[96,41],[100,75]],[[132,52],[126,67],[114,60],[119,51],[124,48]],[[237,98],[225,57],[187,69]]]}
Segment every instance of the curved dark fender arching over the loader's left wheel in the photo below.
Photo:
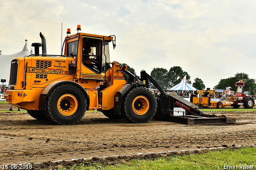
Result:
{"label": "curved dark fender arching over the loader's left wheel", "polygon": [[86,106],[86,110],[89,109],[90,106],[90,98],[89,95],[87,94],[86,90],[84,89],[84,87],[82,87],[82,85],[74,82],[74,81],[69,81],[69,80],[64,80],[64,81],[54,81],[50,84],[48,84],[44,90],[42,91],[42,93],[40,93],[40,99],[39,99],[39,107],[38,109],[40,110],[46,110],[46,99],[51,95],[52,91],[54,89],[56,89],[58,86],[63,85],[63,84],[72,84],[72,85],[76,85],[80,90],[82,90],[85,94],[85,98],[87,101],[87,106]]}

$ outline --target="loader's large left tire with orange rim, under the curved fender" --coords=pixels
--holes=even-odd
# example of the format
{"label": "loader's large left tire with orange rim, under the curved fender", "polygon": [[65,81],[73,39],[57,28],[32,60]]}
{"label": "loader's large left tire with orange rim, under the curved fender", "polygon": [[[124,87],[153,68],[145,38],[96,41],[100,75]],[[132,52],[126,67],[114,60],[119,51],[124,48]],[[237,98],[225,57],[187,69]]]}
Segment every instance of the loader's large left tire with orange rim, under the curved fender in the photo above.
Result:
{"label": "loader's large left tire with orange rim, under the curved fender", "polygon": [[59,125],[72,125],[82,119],[86,111],[84,93],[75,85],[60,85],[47,99],[47,119]]}

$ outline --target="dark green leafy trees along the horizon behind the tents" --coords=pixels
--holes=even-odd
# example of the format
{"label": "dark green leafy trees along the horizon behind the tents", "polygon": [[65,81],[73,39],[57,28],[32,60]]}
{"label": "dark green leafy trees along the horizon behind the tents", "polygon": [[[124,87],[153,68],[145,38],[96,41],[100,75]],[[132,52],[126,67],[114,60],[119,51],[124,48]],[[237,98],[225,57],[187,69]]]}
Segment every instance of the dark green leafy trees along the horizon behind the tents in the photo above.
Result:
{"label": "dark green leafy trees along the horizon behind the tents", "polygon": [[[126,65],[123,63],[122,65]],[[132,67],[128,66],[128,71],[135,73]],[[136,74],[136,73],[135,73]],[[186,83],[191,85],[190,75],[182,70],[180,66],[173,66],[169,70],[164,68],[153,68],[150,72],[151,77],[160,85],[164,90],[170,89],[175,85],[179,84],[186,75]],[[236,73],[234,77],[229,77],[226,79],[220,79],[219,83],[214,86],[214,89],[226,89],[226,87],[231,87],[232,91],[236,91],[235,83],[242,80],[246,83],[245,91],[250,91],[251,94],[256,93],[256,81],[255,79],[250,79],[249,75],[246,73]],[[192,86],[198,90],[204,90],[205,85],[202,79],[195,78]],[[150,88],[155,89],[153,84],[150,84]]]}

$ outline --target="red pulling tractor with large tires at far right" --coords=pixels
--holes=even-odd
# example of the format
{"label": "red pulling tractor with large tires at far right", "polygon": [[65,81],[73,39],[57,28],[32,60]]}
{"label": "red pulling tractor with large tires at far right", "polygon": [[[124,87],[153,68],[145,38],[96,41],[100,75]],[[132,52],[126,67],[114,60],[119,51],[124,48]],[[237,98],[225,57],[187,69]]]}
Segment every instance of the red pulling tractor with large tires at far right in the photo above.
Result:
{"label": "red pulling tractor with large tires at far right", "polygon": [[254,99],[244,93],[245,83],[239,81],[236,82],[235,86],[237,87],[235,95],[227,95],[228,101],[233,101],[231,106],[239,108],[240,105],[243,105],[245,109],[252,109],[254,107]]}

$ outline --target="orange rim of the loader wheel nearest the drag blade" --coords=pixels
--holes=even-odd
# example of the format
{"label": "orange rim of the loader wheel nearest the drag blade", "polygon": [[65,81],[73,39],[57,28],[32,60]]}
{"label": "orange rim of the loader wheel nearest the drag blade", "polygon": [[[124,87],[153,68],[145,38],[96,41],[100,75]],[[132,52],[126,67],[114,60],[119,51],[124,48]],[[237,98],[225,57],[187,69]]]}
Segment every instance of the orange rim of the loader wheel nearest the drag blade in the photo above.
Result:
{"label": "orange rim of the loader wheel nearest the drag blade", "polygon": [[137,115],[144,115],[149,109],[148,99],[144,96],[137,96],[132,101],[132,109]]}

